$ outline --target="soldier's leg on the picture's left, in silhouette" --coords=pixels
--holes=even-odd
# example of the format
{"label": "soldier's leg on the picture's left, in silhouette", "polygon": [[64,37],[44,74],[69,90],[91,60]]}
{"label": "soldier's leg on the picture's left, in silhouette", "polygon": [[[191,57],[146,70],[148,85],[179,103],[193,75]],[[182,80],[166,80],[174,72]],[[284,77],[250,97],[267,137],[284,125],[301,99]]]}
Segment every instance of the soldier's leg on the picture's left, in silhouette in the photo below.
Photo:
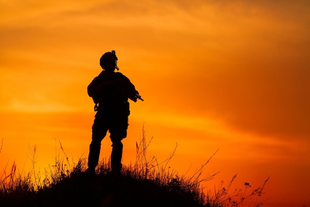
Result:
{"label": "soldier's leg on the picture's left, in silhouette", "polygon": [[107,127],[104,126],[104,120],[100,117],[96,117],[92,127],[92,142],[89,145],[89,155],[88,155],[88,168],[95,171],[98,165],[101,141],[107,133]]}

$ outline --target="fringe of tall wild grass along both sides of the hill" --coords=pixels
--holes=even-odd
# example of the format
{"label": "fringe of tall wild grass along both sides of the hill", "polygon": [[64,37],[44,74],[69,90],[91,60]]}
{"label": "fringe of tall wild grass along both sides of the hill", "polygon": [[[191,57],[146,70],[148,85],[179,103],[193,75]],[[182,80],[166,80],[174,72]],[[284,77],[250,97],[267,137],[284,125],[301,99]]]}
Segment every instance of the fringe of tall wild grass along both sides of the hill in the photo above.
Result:
{"label": "fringe of tall wild grass along both sides of the hill", "polygon": [[[260,199],[269,178],[264,181],[261,187],[253,191],[250,191],[250,184],[245,183],[243,190],[235,189],[231,192],[231,186],[236,179],[236,174],[232,177],[227,187],[224,187],[224,183],[222,182],[217,188],[214,187],[213,191],[206,190],[206,187],[204,187],[206,182],[218,174],[217,172],[203,176],[208,162],[215,156],[217,151],[215,151],[193,175],[179,175],[177,171],[168,166],[169,161],[176,153],[177,144],[167,159],[159,161],[155,156],[149,156],[147,154],[147,148],[152,140],[153,137],[147,141],[143,128],[142,136],[139,138],[139,141],[136,142],[135,162],[128,166],[124,165],[121,171],[123,181],[128,183],[127,187],[128,185],[137,185],[137,182],[139,182],[139,188],[146,188],[145,191],[151,191],[151,186],[152,188],[156,186],[156,190],[153,189],[153,192],[149,192],[148,194],[157,195],[159,189],[162,192],[167,192],[170,198],[174,198],[175,196],[175,198],[178,199],[182,198],[186,201],[191,201],[189,204],[193,207],[243,207],[246,204],[248,206],[247,201],[249,200],[254,201],[251,207],[260,207],[263,205],[265,200],[261,201]],[[15,162],[12,164],[9,174],[6,174],[6,168],[4,169],[0,176],[0,206],[1,204],[10,204],[12,201],[14,201],[15,204],[17,201],[18,204],[19,200],[22,201],[28,197],[35,198],[40,192],[46,192],[52,188],[59,190],[59,186],[68,186],[68,180],[70,179],[74,180],[75,183],[84,179],[83,172],[87,168],[86,159],[80,158],[77,163],[73,161],[70,162],[60,142],[59,144],[63,156],[59,154],[56,155],[55,163],[44,168],[42,172],[41,170],[35,170],[36,146],[31,148],[33,168],[30,172],[18,172]],[[2,144],[0,152],[1,148]],[[108,176],[110,171],[110,162],[106,159],[103,159],[96,168],[98,178]],[[142,186],[141,183],[143,183]],[[84,187],[75,184],[74,188]],[[141,191],[141,189],[139,189],[139,191]],[[131,196],[134,196],[134,194]],[[152,199],[153,198],[155,197],[152,197]],[[180,206],[180,204],[178,204],[178,206]]]}

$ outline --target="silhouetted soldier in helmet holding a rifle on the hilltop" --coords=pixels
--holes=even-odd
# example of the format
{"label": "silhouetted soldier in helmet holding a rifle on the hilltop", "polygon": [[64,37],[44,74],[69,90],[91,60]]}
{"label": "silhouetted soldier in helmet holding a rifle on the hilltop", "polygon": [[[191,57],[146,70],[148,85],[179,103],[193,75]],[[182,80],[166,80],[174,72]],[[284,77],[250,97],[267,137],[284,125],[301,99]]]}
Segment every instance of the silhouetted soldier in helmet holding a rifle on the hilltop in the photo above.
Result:
{"label": "silhouetted soldier in helmet holding a rifle on the hilltop", "polygon": [[[120,172],[123,144],[121,140],[127,137],[129,102],[128,98],[136,102],[141,99],[139,92],[130,80],[117,69],[115,51],[104,53],[100,59],[103,71],[94,78],[87,87],[87,92],[95,102],[94,124],[92,127],[92,142],[89,148],[88,169],[95,173],[99,161],[101,141],[107,131],[112,141],[110,164],[112,172]],[[141,99],[143,100],[143,99]]]}

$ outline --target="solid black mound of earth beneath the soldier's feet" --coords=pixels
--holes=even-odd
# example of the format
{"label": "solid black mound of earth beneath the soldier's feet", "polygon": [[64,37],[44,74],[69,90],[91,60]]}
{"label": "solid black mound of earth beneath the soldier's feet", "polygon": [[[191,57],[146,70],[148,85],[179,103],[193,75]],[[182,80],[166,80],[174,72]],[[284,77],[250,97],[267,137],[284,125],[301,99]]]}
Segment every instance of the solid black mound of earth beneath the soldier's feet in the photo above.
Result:
{"label": "solid black mound of earth beneath the soldier's feet", "polygon": [[[2,207],[203,207],[193,194],[175,181],[136,179],[129,174],[72,175],[38,192],[18,199],[6,198]],[[2,204],[1,204],[2,203]]]}

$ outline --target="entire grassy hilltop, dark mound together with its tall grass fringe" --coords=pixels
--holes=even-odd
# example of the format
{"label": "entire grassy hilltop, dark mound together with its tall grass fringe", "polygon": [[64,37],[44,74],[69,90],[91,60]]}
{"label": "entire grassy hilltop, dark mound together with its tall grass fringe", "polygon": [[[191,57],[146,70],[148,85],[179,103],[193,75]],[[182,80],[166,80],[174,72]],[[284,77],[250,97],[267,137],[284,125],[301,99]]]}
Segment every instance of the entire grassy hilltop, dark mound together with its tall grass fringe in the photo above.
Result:
{"label": "entire grassy hilltop, dark mound together with its tall grass fringe", "polygon": [[44,175],[17,174],[13,163],[9,175],[0,175],[0,207],[242,207],[252,198],[253,207],[262,205],[258,198],[268,179],[252,193],[246,194],[251,186],[245,183],[244,191],[235,190],[229,195],[234,176],[226,188],[219,186],[216,192],[205,194],[201,183],[217,173],[202,178],[202,170],[215,153],[192,177],[185,177],[166,169],[176,148],[168,159],[158,163],[155,157],[146,157],[149,144],[143,132],[136,163],[124,166],[119,175],[110,173],[106,160],[98,165],[96,175],[84,173],[85,159],[70,165],[67,157],[56,158]]}

